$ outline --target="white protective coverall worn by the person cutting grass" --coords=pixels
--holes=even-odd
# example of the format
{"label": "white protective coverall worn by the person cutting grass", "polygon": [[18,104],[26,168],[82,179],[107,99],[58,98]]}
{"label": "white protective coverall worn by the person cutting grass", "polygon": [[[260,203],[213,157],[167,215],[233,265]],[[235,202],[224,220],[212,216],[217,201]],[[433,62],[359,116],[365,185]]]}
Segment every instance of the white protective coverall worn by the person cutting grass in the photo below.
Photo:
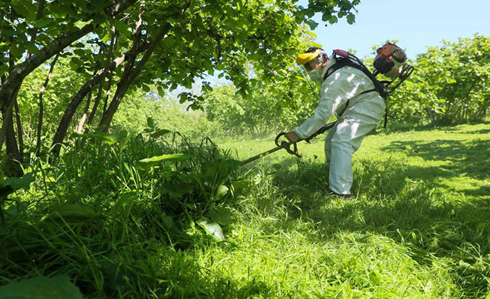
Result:
{"label": "white protective coverall worn by the person cutting grass", "polygon": [[[328,60],[323,76],[335,64],[334,55]],[[337,114],[337,124],[325,141],[325,156],[327,163],[330,162],[329,189],[337,194],[350,194],[352,155],[362,139],[378,126],[385,112],[385,101],[378,92],[361,94],[373,88],[371,79],[360,69],[348,66],[337,69],[321,83],[319,105],[314,114],[294,129],[302,139],[310,137]]]}

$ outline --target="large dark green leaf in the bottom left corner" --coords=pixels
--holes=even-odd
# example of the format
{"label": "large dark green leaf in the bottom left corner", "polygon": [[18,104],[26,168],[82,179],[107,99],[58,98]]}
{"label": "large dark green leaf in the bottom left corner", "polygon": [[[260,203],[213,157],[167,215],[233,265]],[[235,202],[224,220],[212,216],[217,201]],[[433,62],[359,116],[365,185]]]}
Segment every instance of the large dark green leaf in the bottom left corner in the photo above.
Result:
{"label": "large dark green leaf in the bottom left corner", "polygon": [[0,298],[11,299],[83,299],[67,275],[39,276],[0,287]]}

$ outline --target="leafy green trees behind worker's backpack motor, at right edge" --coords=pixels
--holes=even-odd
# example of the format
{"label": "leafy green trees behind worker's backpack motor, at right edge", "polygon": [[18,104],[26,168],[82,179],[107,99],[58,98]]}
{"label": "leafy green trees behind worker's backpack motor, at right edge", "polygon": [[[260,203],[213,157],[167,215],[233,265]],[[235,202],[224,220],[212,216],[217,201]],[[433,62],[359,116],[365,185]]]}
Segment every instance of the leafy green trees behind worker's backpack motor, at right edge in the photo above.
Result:
{"label": "leafy green trees behind worker's backpack motor, at right edge", "polygon": [[397,121],[435,125],[484,119],[490,108],[488,53],[490,38],[482,35],[429,46],[394,94],[391,115]]}

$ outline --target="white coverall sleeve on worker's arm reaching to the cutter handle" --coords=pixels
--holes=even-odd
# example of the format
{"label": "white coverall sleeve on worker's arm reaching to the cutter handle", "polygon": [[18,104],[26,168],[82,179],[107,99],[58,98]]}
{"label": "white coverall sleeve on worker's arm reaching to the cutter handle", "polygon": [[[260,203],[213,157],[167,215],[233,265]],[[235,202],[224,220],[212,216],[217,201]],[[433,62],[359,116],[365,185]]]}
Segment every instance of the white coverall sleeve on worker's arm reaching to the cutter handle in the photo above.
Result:
{"label": "white coverall sleeve on worker's arm reaching to the cutter handle", "polygon": [[358,85],[353,81],[357,75],[348,69],[350,68],[338,69],[323,81],[318,107],[310,118],[294,129],[301,139],[310,137],[319,130],[337,112],[337,109],[343,108],[347,100],[355,95]]}

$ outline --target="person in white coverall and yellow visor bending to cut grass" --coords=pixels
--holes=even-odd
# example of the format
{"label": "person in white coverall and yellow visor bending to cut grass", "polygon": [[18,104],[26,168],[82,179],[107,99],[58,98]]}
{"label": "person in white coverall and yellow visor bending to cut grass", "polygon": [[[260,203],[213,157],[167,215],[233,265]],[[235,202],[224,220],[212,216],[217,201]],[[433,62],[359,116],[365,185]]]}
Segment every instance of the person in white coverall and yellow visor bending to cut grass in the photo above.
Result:
{"label": "person in white coverall and yellow visor bending to cut grass", "polygon": [[[389,58],[388,69],[382,74],[394,77],[406,60],[405,53],[390,43],[378,49],[378,54],[383,51],[391,52],[380,56],[385,62],[388,61],[385,58]],[[330,194],[349,200],[353,185],[352,155],[364,137],[380,123],[385,112],[385,101],[375,90],[369,76],[356,67],[336,67],[337,59],[335,55],[329,57],[326,51],[317,47],[298,55],[296,63],[303,65],[310,80],[321,84],[319,105],[310,118],[286,133],[285,137],[289,142],[306,139],[336,114],[337,123],[325,142],[326,161],[330,164],[328,189]]]}

